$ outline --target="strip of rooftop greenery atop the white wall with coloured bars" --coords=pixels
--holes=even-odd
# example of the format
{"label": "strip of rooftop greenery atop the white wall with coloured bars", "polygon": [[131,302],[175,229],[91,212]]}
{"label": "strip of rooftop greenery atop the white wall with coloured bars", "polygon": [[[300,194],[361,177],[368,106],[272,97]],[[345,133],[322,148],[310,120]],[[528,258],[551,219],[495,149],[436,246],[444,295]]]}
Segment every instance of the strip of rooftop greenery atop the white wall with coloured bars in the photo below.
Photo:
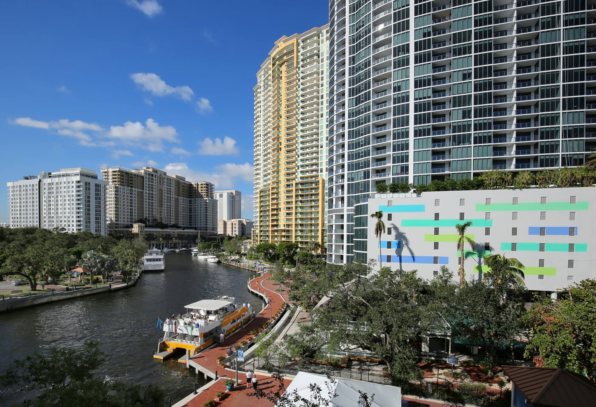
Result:
{"label": "strip of rooftop greenery atop the white wall with coloured bars", "polygon": [[538,173],[520,171],[514,173],[502,170],[486,171],[472,179],[445,181],[434,180],[430,184],[409,184],[406,182],[377,184],[378,193],[422,193],[432,191],[462,191],[480,189],[525,189],[525,188],[569,188],[591,187],[596,182],[596,170],[592,168],[557,168]]}

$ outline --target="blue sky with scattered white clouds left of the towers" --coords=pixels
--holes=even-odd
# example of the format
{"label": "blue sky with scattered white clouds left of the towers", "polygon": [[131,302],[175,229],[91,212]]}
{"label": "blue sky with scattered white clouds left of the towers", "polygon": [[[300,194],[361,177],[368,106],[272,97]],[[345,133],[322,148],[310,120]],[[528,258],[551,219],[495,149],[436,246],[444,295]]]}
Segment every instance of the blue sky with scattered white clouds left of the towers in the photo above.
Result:
{"label": "blue sky with scattered white clouds left of the towers", "polygon": [[1,181],[153,165],[240,190],[252,218],[255,74],[327,22],[321,0],[2,2]]}

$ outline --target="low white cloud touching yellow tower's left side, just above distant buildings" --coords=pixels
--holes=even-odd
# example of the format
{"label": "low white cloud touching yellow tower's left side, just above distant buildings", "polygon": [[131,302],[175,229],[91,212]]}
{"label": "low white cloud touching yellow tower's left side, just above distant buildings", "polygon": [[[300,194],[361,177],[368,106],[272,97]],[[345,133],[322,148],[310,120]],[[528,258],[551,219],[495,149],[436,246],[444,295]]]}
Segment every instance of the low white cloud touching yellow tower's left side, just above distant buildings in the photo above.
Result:
{"label": "low white cloud touching yellow tower's left side, just above distant buildings", "polygon": [[176,174],[186,177],[191,182],[209,181],[215,184],[216,189],[232,189],[235,181],[240,178],[243,181],[252,182],[253,166],[248,162],[245,164],[223,164],[215,167],[214,173],[204,173],[188,168],[186,162],[170,162],[164,170],[168,174]]}

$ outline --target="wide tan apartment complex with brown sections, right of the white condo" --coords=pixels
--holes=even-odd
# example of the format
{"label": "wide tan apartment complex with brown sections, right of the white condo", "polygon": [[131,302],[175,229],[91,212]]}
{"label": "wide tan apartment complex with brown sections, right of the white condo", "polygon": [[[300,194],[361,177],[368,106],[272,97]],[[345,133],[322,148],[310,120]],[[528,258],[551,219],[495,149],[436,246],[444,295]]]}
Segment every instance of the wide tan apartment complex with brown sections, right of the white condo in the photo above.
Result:
{"label": "wide tan apartment complex with brown sections, right of the white condo", "polygon": [[212,232],[217,229],[212,183],[191,183],[182,176],[169,176],[153,167],[104,167],[101,174],[108,182],[108,231],[131,227],[140,219],[149,224],[196,227]]}

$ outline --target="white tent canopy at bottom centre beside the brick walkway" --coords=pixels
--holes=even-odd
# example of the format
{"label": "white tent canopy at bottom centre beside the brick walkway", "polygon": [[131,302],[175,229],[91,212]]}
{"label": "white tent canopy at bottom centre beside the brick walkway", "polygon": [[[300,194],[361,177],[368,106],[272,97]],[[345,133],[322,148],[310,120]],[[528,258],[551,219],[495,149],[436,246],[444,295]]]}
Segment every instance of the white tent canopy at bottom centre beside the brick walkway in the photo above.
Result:
{"label": "white tent canopy at bottom centre beside the brick walkway", "polygon": [[[327,377],[320,374],[299,372],[296,378],[290,383],[290,386],[285,390],[284,395],[290,396],[294,390],[297,391],[298,395],[310,400],[311,390],[309,386],[316,384],[321,387],[321,396],[328,399],[333,392],[337,393],[334,397],[333,402],[329,407],[358,407],[362,406],[358,404],[360,395],[358,390],[361,390],[367,395],[373,396],[374,401],[371,404],[374,407],[401,407],[402,405],[402,389],[395,386],[387,386],[386,384],[369,383],[368,381],[354,380],[343,377],[333,377],[336,383],[331,385],[328,389]],[[291,397],[291,396],[290,396]],[[302,404],[299,402],[296,406],[299,407]]]}

